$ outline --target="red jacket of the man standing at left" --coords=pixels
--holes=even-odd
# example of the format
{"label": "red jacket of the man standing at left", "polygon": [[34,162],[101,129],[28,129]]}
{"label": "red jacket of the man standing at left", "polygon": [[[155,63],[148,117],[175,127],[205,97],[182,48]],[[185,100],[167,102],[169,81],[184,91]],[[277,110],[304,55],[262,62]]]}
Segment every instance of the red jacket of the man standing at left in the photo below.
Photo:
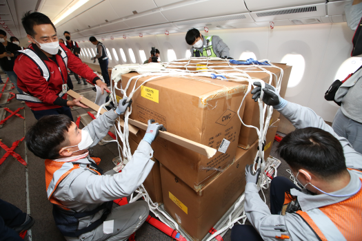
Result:
{"label": "red jacket of the man standing at left", "polygon": [[[72,52],[66,48],[66,45],[63,43],[60,43],[60,45],[61,48],[66,51],[68,56],[68,68],[70,70],[76,72],[84,78],[87,78],[93,83],[95,83],[97,79],[100,79],[93,73],[92,69],[90,69],[88,65],[82,63],[81,59],[72,54]],[[67,83],[68,79],[67,67],[61,58],[60,50],[58,54],[54,54],[59,65],[58,67],[57,63],[49,59],[37,45],[32,44],[29,48],[34,50],[39,58],[46,63],[49,69],[50,78],[47,82],[41,74],[38,66],[28,56],[24,54],[19,54],[19,56],[17,56],[14,63],[14,72],[18,76],[18,87],[23,90],[23,92],[31,94],[43,101],[43,103],[26,102],[26,105],[35,111],[66,106],[67,94],[64,94],[62,97],[58,96],[61,92],[61,85],[63,85],[63,83]],[[59,71],[59,69],[61,71]]]}

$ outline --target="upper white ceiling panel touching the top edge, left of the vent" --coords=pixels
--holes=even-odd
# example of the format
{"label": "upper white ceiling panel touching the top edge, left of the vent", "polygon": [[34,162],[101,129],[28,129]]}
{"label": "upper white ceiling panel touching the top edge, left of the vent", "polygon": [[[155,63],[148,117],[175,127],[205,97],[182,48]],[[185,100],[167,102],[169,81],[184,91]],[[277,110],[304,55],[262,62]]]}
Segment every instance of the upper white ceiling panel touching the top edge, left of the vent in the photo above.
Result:
{"label": "upper white ceiling panel touching the top edge, left of the vent", "polygon": [[163,6],[160,10],[172,22],[248,12],[241,0],[180,1]]}

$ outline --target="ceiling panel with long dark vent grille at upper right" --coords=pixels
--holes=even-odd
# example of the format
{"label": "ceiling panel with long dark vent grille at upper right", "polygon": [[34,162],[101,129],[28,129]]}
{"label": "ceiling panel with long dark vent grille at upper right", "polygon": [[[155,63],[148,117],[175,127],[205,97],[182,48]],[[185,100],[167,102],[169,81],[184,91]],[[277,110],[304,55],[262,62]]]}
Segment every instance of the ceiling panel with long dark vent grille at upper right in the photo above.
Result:
{"label": "ceiling panel with long dark vent grille at upper right", "polygon": [[283,19],[300,19],[325,16],[325,4],[319,3],[314,5],[279,8],[274,10],[250,12],[250,15],[256,22],[274,21]]}

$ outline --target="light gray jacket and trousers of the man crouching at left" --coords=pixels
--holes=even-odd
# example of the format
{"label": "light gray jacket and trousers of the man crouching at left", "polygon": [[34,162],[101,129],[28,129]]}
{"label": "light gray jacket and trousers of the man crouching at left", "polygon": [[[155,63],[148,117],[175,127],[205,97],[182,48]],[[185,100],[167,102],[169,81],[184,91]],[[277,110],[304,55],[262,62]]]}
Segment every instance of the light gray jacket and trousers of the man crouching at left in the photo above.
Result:
{"label": "light gray jacket and trousers of the man crouching at left", "polygon": [[[93,139],[91,145],[97,145],[114,125],[119,116],[114,112],[106,112],[99,116],[86,127]],[[137,151],[134,151],[132,159],[125,165],[121,173],[110,170],[104,175],[97,175],[90,169],[74,169],[64,178],[55,189],[53,197],[59,200],[62,205],[73,211],[91,211],[103,204],[118,198],[130,196],[143,183],[150,173],[154,162],[150,160],[153,150],[147,142],[141,140]],[[54,160],[57,161],[57,160]],[[59,160],[60,161],[60,160]],[[75,163],[90,164],[94,160],[87,156],[77,160]],[[88,227],[89,224],[98,220],[103,210],[92,216],[81,218],[78,229]],[[129,205],[112,209],[106,220],[114,220],[113,233],[104,234],[103,224],[97,229],[84,233],[79,238],[65,237],[66,240],[127,240],[148,217],[148,204],[144,201],[137,201]]]}

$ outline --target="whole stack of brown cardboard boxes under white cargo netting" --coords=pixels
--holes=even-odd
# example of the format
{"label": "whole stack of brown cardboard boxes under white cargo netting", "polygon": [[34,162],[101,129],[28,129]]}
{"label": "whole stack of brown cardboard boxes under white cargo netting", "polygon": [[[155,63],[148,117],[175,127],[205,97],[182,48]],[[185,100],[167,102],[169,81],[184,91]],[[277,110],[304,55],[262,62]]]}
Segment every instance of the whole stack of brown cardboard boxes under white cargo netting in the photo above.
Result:
{"label": "whole stack of brown cardboard boxes under white cargo netting", "polygon": [[[197,62],[194,64],[188,70],[200,68],[196,66]],[[215,66],[219,64],[214,63]],[[282,64],[278,66],[284,70],[281,87],[281,95],[284,96],[291,67]],[[243,68],[254,70],[255,67]],[[280,75],[278,69],[268,70],[276,76]],[[137,75],[124,74],[118,87],[122,85],[124,89],[130,78]],[[250,73],[250,76],[269,81],[269,74]],[[148,78],[139,78],[136,87]],[[135,79],[130,83],[128,96],[134,83]],[[246,87],[247,83],[199,76],[164,76],[145,83],[132,97],[130,118],[134,120],[147,123],[152,118],[162,123],[172,134],[215,149],[219,149],[223,139],[230,141],[225,154],[218,151],[210,159],[159,137],[152,143],[154,157],[161,166],[161,175],[154,171],[152,176],[154,180],[159,180],[161,176],[162,188],[153,182],[146,189],[151,193],[150,189],[162,189],[166,211],[194,240],[201,240],[243,193],[245,165],[252,164],[257,154],[257,132],[254,129],[243,129],[236,113]],[[120,92],[116,94],[122,96]],[[243,122],[259,126],[259,106],[251,99],[251,94],[246,97],[245,105],[245,110],[242,107],[239,113]],[[265,159],[272,149],[279,125],[278,118],[279,112],[274,111],[265,141]],[[254,136],[252,132],[255,132]],[[132,143],[134,146],[131,149],[136,148],[144,134],[143,130],[137,136],[130,134],[130,145]]]}

